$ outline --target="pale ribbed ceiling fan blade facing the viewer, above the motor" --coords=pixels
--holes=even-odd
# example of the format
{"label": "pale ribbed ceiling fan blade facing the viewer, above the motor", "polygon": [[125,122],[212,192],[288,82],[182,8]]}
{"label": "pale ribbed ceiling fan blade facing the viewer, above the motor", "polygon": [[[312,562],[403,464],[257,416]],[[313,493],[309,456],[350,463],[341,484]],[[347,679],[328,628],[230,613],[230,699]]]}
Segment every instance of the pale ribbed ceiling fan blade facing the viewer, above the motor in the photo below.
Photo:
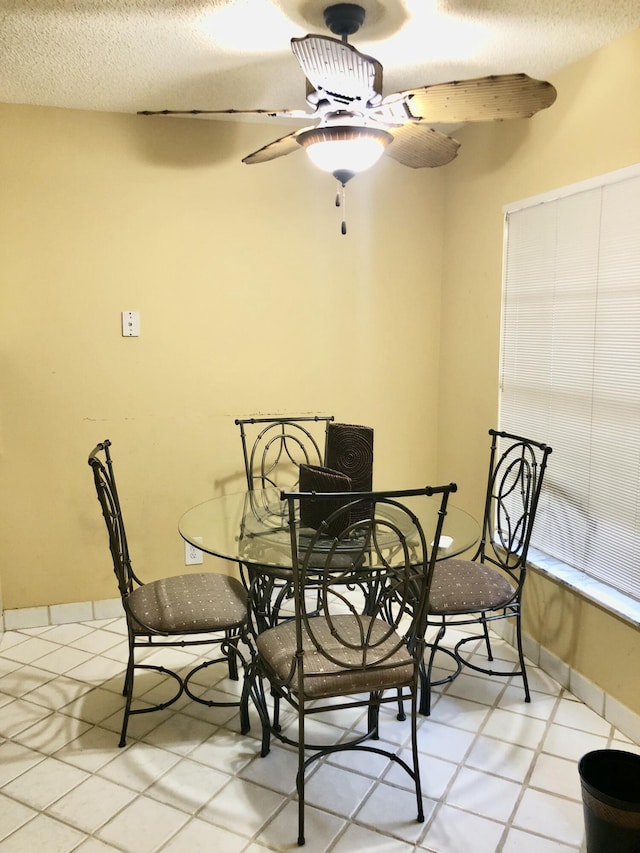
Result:
{"label": "pale ribbed ceiling fan blade facing the viewer, above the motor", "polygon": [[382,65],[377,59],[329,36],[291,39],[291,50],[315,91],[350,106],[368,104],[382,92]]}

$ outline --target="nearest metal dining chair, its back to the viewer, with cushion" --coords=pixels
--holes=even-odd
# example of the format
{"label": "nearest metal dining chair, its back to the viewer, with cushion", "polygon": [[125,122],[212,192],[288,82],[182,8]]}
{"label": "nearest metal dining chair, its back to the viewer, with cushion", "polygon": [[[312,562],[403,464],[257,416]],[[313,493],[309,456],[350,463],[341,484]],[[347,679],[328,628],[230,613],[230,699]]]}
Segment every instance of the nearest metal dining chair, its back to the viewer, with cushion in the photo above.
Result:
{"label": "nearest metal dining chair, its back to the viewer, with cushion", "polygon": [[[416,740],[420,663],[436,551],[447,500],[455,484],[385,492],[353,492],[317,530],[303,531],[298,508],[313,492],[283,492],[293,567],[294,618],[258,634],[247,689],[262,724],[262,756],[271,738],[298,755],[298,844],[305,843],[305,774],[320,758],[344,750],[383,756],[413,783],[417,820],[424,820]],[[344,492],[325,501],[344,500]],[[435,531],[425,535],[409,500],[438,501]],[[367,507],[367,514],[360,510]],[[327,531],[336,531],[328,535]],[[339,531],[339,532],[338,532]],[[320,601],[320,608],[318,608]],[[268,687],[268,690],[265,689]],[[267,694],[293,711],[289,726],[270,716]],[[380,740],[380,708],[405,699],[411,706],[411,759]],[[323,713],[366,709],[361,730],[340,743],[308,743],[307,721]],[[322,773],[322,768],[318,770]],[[403,790],[398,788],[398,796]]]}

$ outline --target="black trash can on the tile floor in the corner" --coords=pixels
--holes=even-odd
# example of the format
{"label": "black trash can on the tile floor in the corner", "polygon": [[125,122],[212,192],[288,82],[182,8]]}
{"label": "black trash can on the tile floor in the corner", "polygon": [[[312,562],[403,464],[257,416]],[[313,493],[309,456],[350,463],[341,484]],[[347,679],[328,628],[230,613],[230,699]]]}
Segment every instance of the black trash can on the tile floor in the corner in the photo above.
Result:
{"label": "black trash can on the tile floor in the corner", "polygon": [[640,853],[640,755],[596,749],[578,772],[587,853]]}

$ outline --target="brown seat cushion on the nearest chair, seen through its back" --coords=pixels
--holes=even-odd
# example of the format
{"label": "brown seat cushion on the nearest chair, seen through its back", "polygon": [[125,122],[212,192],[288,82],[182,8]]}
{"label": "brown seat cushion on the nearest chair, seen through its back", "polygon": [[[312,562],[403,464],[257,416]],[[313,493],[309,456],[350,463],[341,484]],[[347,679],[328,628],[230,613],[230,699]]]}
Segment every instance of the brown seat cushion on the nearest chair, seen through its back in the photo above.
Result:
{"label": "brown seat cushion on the nearest chair, seen through its back", "polygon": [[[339,615],[332,619],[333,631],[323,616],[312,617],[309,623],[316,643],[337,661],[343,662],[344,666],[319,652],[309,633],[303,630],[304,692],[307,698],[347,696],[411,684],[413,659],[401,638],[390,631],[389,625],[382,620],[372,620],[368,616]],[[363,644],[362,635],[369,630],[379,645],[371,647]],[[389,636],[385,637],[387,633]],[[258,635],[256,643],[267,668],[278,680],[288,681],[296,654],[295,621],[269,628]],[[383,661],[390,652],[389,660]],[[289,687],[293,693],[297,693],[297,675],[293,675]]]}

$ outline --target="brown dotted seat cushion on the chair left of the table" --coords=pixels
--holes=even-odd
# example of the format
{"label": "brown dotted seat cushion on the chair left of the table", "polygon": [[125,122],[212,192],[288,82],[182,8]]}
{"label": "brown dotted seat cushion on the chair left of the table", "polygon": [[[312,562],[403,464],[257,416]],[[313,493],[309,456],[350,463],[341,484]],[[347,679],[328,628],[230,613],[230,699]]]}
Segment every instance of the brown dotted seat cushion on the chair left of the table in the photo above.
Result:
{"label": "brown dotted seat cushion on the chair left of the table", "polygon": [[127,603],[134,630],[141,634],[144,625],[164,634],[191,634],[237,628],[247,620],[247,593],[240,581],[213,572],[146,583]]}

